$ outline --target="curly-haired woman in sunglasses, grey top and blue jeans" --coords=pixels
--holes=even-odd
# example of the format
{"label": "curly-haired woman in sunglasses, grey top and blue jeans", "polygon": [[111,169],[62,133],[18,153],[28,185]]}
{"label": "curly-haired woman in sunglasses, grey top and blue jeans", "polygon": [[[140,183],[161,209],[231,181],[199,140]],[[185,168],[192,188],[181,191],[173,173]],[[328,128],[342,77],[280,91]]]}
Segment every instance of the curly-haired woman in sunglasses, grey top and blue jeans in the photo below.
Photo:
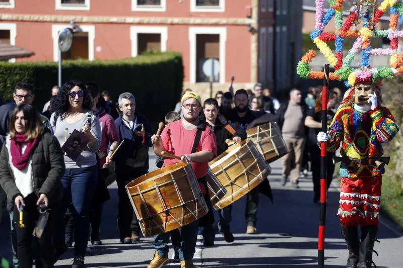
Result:
{"label": "curly-haired woman in sunglasses, grey top and blue jeans", "polygon": [[[84,149],[77,157],[64,150],[66,170],[62,178],[64,194],[58,210],[58,222],[64,222],[64,214],[71,201],[75,237],[73,268],[84,267],[89,232],[88,215],[98,183],[95,153],[99,149],[102,133],[99,118],[91,108],[91,97],[85,85],[80,81],[71,80],[66,82],[57,94],[56,111],[50,118],[54,135],[60,145],[63,145],[75,130],[81,132],[81,136],[88,140],[87,143],[85,138],[80,139],[80,147]],[[64,227],[64,224],[59,224],[55,233],[56,260],[67,249],[64,244]]]}

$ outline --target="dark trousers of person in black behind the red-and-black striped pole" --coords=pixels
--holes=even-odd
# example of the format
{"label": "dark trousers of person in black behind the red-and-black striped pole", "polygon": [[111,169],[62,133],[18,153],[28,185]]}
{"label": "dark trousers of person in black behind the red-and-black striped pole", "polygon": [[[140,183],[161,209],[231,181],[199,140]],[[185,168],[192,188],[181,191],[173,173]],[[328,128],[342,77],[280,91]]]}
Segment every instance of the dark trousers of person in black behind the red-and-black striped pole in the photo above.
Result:
{"label": "dark trousers of person in black behind the red-and-black striped pole", "polygon": [[[320,200],[320,148],[318,146],[310,146],[309,154],[311,156],[312,163],[315,163],[315,165],[313,165],[311,169],[312,169],[312,182],[314,193],[313,200],[314,202],[317,202]],[[329,188],[331,180],[333,178],[333,172],[334,172],[333,156],[334,153],[327,153],[326,158],[327,189]]]}

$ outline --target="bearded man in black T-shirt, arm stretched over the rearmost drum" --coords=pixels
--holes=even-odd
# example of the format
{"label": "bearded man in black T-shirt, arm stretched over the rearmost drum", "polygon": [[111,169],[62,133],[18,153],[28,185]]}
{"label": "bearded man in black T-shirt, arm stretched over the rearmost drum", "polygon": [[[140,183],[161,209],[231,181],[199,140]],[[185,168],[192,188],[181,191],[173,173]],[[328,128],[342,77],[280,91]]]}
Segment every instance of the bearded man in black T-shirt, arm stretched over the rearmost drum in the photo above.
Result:
{"label": "bearded man in black T-shirt, arm stretched over the rearmost drum", "polygon": [[[251,111],[249,109],[248,93],[244,90],[238,90],[235,93],[235,108],[227,114],[228,123],[235,129],[250,129],[256,125],[275,121],[275,116],[271,113]],[[257,207],[259,204],[259,189],[254,188],[247,194],[245,218],[246,218],[246,233],[255,234],[257,221]]]}

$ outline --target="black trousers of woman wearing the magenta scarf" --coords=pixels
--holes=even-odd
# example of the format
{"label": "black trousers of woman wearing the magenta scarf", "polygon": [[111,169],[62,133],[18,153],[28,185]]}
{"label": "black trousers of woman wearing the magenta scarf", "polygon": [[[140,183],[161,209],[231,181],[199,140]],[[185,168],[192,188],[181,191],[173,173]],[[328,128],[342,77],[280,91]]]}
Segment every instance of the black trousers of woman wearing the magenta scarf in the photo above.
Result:
{"label": "black trousers of woman wearing the magenta scarf", "polygon": [[[19,267],[32,267],[33,264],[33,242],[38,245],[38,251],[42,262],[42,267],[53,267],[53,245],[52,232],[55,220],[55,213],[49,212],[49,218],[46,227],[42,232],[41,238],[36,238],[32,235],[36,221],[39,218],[36,201],[38,197],[35,194],[30,194],[26,198],[23,211],[24,228],[19,227],[20,213],[14,205],[14,222],[17,234],[17,252]],[[55,207],[54,207],[55,208]]]}

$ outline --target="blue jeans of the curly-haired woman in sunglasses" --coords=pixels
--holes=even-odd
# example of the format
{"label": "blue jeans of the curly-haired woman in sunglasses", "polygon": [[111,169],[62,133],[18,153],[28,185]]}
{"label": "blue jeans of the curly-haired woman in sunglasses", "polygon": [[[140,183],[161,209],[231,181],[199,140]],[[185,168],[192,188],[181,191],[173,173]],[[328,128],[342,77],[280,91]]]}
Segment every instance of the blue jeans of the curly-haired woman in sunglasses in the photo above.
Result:
{"label": "blue jeans of the curly-haired woman in sunglasses", "polygon": [[95,187],[98,183],[98,167],[93,165],[82,168],[66,168],[63,178],[63,199],[58,211],[58,224],[54,235],[55,248],[64,246],[64,214],[70,200],[73,203],[74,219],[74,255],[85,256],[89,234],[89,212]]}

